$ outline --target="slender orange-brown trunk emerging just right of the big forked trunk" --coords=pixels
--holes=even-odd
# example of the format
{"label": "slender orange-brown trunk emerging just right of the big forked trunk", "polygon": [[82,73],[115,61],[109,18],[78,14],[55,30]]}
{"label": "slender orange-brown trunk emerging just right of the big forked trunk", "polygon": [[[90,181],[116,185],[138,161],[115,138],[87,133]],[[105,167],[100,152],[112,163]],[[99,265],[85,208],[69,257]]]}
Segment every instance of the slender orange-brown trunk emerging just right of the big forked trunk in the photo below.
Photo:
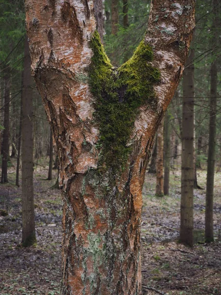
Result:
{"label": "slender orange-brown trunk emerging just right of the big forked trunk", "polygon": [[164,122],[157,130],[157,184],[156,195],[162,197],[164,195]]}

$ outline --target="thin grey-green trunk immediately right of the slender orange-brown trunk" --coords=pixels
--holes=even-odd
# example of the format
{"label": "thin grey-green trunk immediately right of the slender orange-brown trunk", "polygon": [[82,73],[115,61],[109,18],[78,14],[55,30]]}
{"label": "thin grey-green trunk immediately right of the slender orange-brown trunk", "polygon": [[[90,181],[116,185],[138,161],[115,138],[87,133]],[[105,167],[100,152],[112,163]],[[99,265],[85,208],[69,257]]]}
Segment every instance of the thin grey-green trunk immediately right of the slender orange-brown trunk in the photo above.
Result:
{"label": "thin grey-green trunk immediately right of the slender orange-brown trunk", "polygon": [[165,138],[165,159],[164,159],[164,194],[169,195],[169,170],[170,170],[170,116],[166,112],[164,119],[164,138]]}

